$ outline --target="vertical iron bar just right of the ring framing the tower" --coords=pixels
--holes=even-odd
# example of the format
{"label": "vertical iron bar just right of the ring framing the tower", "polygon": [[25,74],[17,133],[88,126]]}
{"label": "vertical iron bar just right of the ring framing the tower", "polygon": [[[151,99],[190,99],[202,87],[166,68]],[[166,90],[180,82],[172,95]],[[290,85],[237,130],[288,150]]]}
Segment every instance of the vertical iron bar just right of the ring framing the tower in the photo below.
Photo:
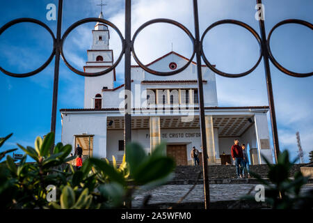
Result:
{"label": "vertical iron bar just right of the ring framing the tower", "polygon": [[125,146],[131,141],[131,0],[125,0]]}

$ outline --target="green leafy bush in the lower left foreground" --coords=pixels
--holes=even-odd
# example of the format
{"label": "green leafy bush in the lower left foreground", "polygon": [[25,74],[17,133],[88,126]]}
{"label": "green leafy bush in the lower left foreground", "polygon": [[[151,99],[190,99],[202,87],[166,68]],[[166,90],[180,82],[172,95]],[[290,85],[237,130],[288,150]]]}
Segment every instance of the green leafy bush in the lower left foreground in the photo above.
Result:
{"label": "green leafy bush in the lower left foreground", "polygon": [[[0,138],[0,147],[11,136]],[[25,155],[15,164],[10,155],[0,163],[0,208],[127,208],[132,194],[138,189],[151,189],[172,177],[175,163],[165,155],[165,144],[160,144],[147,155],[139,144],[126,146],[126,155],[119,166],[109,160],[90,157],[75,171],[68,164],[72,146],[58,143],[53,146],[54,133],[45,139],[37,137],[35,148],[17,144]],[[17,149],[0,153],[0,161]],[[35,162],[26,162],[29,156]],[[49,185],[56,188],[56,201],[48,201]],[[128,206],[127,206],[128,205]]]}

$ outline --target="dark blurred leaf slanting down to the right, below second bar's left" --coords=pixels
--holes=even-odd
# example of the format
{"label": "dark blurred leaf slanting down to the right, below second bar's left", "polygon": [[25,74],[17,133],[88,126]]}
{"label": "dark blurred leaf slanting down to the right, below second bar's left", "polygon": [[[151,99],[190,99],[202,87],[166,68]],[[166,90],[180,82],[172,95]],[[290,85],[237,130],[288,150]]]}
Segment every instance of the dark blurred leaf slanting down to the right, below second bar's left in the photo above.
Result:
{"label": "dark blurred leaf slanting down to the right, below second bar's left", "polygon": [[125,180],[114,167],[112,167],[110,164],[106,163],[104,160],[99,160],[97,158],[91,157],[90,162],[95,164],[96,167],[98,167],[106,176],[109,176],[109,179],[115,182],[118,182],[122,185],[125,185]]}

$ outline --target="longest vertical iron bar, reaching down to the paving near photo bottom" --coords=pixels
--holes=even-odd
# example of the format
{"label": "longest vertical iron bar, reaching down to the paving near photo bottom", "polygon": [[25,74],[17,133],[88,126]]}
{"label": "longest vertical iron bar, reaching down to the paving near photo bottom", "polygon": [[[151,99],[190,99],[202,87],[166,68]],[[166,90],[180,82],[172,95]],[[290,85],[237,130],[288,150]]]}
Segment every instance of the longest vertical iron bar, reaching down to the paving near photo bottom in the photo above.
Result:
{"label": "longest vertical iron bar, reaching down to the paving near photo bottom", "polygon": [[202,68],[201,68],[201,47],[200,47],[200,31],[199,31],[199,16],[198,16],[198,0],[193,0],[193,17],[195,22],[195,56],[197,58],[197,73],[198,73],[198,98],[199,98],[199,113],[200,113],[200,131],[202,144],[202,168],[203,168],[203,184],[204,184],[204,208],[209,209],[210,193],[209,193],[209,175],[207,164],[207,135],[204,116],[204,100],[202,86]]}

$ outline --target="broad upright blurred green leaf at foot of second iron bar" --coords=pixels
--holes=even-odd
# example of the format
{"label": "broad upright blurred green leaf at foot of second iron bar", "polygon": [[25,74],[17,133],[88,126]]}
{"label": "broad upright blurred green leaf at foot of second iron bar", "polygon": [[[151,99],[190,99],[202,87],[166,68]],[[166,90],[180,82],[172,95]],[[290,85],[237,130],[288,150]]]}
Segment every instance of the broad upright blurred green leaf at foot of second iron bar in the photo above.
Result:
{"label": "broad upright blurred green leaf at foot of second iron bar", "polygon": [[129,143],[126,145],[126,162],[129,164],[131,175],[136,172],[136,169],[146,157],[145,150],[141,145],[137,143]]}

